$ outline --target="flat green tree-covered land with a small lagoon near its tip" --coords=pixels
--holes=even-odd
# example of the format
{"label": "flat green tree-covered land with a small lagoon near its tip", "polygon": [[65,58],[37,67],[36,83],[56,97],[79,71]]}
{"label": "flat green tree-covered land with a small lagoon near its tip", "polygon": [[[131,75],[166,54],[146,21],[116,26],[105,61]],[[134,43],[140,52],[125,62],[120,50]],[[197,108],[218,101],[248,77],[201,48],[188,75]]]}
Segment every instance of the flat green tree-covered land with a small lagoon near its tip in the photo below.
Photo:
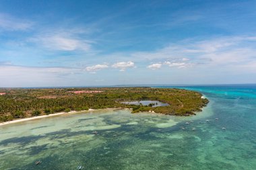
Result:
{"label": "flat green tree-covered land with a small lagoon near its tip", "polygon": [[[190,116],[208,99],[185,89],[102,87],[54,89],[0,89],[0,122],[58,112],[130,108],[131,113]],[[146,104],[143,101],[147,101]]]}

